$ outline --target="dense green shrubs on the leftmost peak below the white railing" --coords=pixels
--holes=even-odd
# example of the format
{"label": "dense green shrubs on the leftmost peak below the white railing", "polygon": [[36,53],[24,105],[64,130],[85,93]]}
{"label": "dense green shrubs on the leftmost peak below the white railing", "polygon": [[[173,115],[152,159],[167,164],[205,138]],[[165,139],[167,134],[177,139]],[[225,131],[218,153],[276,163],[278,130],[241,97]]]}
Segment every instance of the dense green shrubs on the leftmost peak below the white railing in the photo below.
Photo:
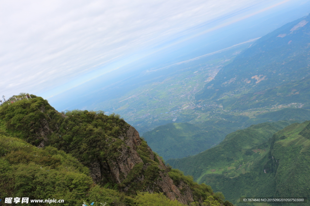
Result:
{"label": "dense green shrubs on the leftmost peak below the white railing", "polygon": [[0,110],[0,120],[5,124],[7,131],[16,137],[39,145],[43,141],[42,128],[49,127],[47,134],[57,129],[60,120],[59,114],[48,102],[41,97],[23,99],[13,104],[4,104]]}

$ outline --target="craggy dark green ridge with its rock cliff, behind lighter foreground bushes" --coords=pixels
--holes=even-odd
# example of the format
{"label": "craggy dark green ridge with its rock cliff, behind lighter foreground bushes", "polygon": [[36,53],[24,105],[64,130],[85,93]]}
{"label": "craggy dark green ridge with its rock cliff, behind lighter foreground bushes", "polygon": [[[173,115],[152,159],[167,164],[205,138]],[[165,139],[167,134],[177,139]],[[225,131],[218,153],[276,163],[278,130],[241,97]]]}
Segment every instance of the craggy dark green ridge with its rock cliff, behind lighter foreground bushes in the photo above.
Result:
{"label": "craggy dark green ridge with its rock cliff, behind lighter foreground bushes", "polygon": [[[90,169],[95,183],[127,195],[163,192],[183,204],[202,202],[213,194],[209,186],[170,171],[119,116],[78,110],[62,114],[41,97],[31,96],[0,107],[2,130],[38,148],[50,145],[71,154]],[[177,180],[170,178],[171,172],[179,174]]]}

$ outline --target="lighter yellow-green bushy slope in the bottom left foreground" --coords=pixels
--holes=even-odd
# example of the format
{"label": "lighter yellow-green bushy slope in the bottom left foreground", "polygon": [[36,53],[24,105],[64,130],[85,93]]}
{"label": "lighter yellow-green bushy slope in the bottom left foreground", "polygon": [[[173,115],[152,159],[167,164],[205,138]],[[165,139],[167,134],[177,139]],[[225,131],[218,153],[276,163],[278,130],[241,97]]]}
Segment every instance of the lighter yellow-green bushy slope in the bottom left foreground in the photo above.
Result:
{"label": "lighter yellow-green bushy slope in the bottom left foreground", "polygon": [[111,205],[124,196],[96,186],[89,169],[64,151],[53,147],[38,149],[3,135],[0,136],[0,193],[2,199],[62,199],[63,205],[81,205],[83,201]]}

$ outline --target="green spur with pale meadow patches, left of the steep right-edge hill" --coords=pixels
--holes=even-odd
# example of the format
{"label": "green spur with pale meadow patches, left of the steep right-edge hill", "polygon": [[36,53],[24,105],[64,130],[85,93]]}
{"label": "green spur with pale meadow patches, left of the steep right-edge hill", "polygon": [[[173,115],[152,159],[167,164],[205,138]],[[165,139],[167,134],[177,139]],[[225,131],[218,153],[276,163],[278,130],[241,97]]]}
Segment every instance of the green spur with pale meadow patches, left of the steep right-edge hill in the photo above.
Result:
{"label": "green spur with pale meadow patches, left of the steep right-edge hill", "polygon": [[[251,148],[266,143],[275,132],[289,124],[287,121],[280,121],[251,125],[249,128],[228,134],[219,145],[204,152],[187,158],[170,159],[166,162],[173,168],[192,175],[197,182],[200,182],[205,174],[227,173],[229,177],[236,177],[244,173],[247,168],[243,164],[244,159],[252,161],[258,158],[260,153],[265,152],[265,148],[258,148],[259,153],[253,153]],[[243,167],[241,168],[240,165]]]}

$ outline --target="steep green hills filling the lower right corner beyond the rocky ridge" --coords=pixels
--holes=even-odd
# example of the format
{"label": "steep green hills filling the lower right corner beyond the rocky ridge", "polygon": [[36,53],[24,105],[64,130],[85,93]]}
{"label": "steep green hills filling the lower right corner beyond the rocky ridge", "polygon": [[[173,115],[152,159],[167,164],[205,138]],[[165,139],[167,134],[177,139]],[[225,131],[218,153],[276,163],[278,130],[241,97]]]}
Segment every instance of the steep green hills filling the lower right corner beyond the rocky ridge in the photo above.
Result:
{"label": "steep green hills filling the lower right corner beyond the rocky ridge", "polygon": [[[285,125],[284,122],[281,124]],[[258,124],[228,135],[226,141],[201,154],[167,162],[188,171],[185,174],[196,175],[200,183],[211,185],[215,191],[222,191],[225,197],[236,205],[239,205],[237,202],[242,196],[309,199],[309,128],[310,121],[294,123],[271,136],[274,131],[271,127]],[[268,135],[262,135],[262,131],[268,131]],[[256,135],[257,133],[259,135]],[[249,145],[246,140],[253,144]],[[223,159],[225,157],[226,160]],[[232,159],[229,159],[230,157]],[[219,159],[223,159],[221,164]],[[190,165],[190,162],[199,160],[205,160],[198,163],[200,168],[204,168],[202,171],[198,166]],[[196,174],[195,170],[200,173]]]}

